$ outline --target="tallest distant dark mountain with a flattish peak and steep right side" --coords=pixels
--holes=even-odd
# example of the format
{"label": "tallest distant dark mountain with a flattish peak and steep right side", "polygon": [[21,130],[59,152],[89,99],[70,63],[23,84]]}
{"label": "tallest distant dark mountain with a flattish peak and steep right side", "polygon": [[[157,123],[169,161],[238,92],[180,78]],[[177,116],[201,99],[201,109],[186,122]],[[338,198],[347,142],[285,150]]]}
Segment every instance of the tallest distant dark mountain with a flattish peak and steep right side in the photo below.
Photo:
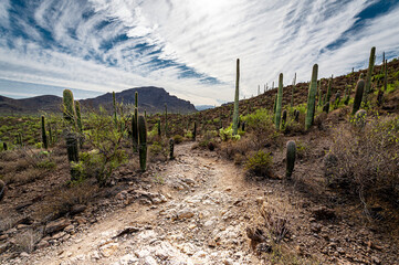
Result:
{"label": "tallest distant dark mountain with a flattish peak and steep right side", "polygon": [[[155,86],[137,87],[115,93],[116,102],[123,104],[134,104],[135,93],[138,93],[138,108],[149,114],[165,112],[165,104],[168,106],[168,113],[188,114],[195,113],[196,107],[188,100],[180,99],[176,96],[169,95],[164,88]],[[95,98],[81,100],[82,106],[98,107],[102,105],[106,109],[113,107],[113,94],[107,93]]]}

